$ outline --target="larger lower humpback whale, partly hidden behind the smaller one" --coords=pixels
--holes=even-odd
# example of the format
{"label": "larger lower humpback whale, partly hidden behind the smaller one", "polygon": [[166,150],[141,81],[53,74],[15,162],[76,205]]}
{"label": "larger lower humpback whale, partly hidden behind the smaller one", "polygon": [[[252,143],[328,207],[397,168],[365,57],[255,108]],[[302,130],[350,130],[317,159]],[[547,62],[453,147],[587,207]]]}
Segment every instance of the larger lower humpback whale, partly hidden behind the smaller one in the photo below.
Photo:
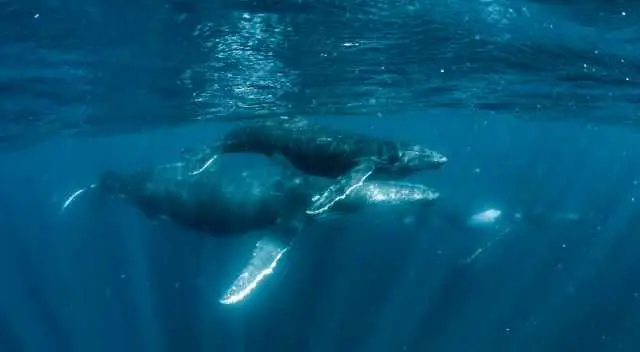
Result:
{"label": "larger lower humpback whale, partly hidden behind the smaller one", "polygon": [[[225,304],[249,295],[273,271],[304,226],[317,221],[305,210],[312,195],[332,182],[255,154],[223,156],[214,167],[196,175],[190,170],[187,163],[179,162],[131,173],[105,172],[92,188],[122,196],[149,217],[166,217],[212,236],[266,230],[268,235],[257,242],[250,261],[220,300]],[[438,193],[419,184],[367,182],[331,212],[421,207],[436,198]]]}

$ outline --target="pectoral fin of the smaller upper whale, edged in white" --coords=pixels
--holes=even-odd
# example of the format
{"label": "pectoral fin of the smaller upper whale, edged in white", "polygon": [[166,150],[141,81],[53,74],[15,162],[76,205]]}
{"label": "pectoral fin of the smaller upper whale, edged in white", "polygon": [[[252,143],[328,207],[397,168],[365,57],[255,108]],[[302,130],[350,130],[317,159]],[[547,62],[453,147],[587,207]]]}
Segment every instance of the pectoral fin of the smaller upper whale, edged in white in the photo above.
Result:
{"label": "pectoral fin of the smaller upper whale, edged in white", "polygon": [[373,160],[366,160],[349,170],[347,174],[338,177],[331,187],[313,199],[313,203],[307,209],[307,214],[315,215],[329,210],[336,202],[346,198],[349,193],[362,186],[362,183],[371,176],[375,167]]}

